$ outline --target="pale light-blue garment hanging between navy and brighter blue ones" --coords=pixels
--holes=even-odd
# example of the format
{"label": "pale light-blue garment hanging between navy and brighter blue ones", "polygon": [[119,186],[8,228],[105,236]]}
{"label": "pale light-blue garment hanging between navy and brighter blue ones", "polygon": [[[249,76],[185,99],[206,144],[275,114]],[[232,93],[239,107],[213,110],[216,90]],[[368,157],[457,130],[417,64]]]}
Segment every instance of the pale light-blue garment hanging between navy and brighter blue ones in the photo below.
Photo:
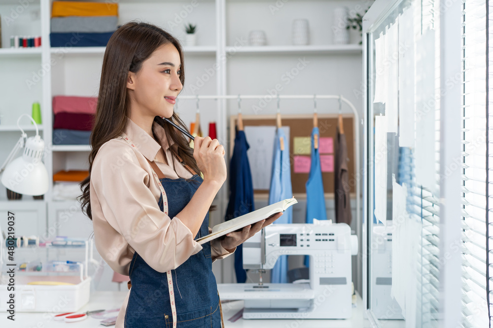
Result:
{"label": "pale light-blue garment hanging between navy and brighter blue ones", "polygon": [[[284,140],[284,150],[281,150],[281,141]],[[284,131],[277,129],[274,140],[274,158],[272,161],[271,188],[269,191],[269,205],[281,202],[286,198],[293,197],[291,187],[291,162],[289,159],[289,139]],[[292,223],[293,209],[290,207],[284,214],[274,221],[276,223]],[[276,265],[271,270],[272,283],[287,283],[287,256],[279,257]]]}

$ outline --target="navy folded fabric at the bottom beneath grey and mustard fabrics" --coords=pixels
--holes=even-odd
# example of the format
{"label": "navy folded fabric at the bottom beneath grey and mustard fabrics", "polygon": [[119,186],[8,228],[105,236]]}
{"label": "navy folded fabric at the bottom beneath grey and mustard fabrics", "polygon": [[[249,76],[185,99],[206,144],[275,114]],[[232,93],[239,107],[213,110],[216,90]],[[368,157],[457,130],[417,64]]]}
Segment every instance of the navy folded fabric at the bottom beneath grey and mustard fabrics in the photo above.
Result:
{"label": "navy folded fabric at the bottom beneath grey and mustard fabrics", "polygon": [[50,42],[52,47],[106,47],[113,32],[50,33]]}

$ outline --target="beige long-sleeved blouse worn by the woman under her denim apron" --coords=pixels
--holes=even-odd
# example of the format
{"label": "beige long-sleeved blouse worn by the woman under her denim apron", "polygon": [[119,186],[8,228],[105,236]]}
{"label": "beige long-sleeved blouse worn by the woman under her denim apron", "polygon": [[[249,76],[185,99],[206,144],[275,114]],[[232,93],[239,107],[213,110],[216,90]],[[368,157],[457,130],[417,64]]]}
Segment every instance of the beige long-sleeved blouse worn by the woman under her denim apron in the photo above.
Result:
{"label": "beige long-sleeved blouse worn by the woman under her denim apron", "polygon": [[[135,252],[153,269],[166,272],[184,263],[202,246],[178,217],[173,220],[159,209],[161,190],[146,158],[154,161],[171,179],[191,178],[171,153],[164,129],[154,123],[159,144],[141,127],[127,118],[125,133],[137,146],[122,137],[106,142],[99,149],[91,169],[90,195],[96,248],[106,263],[118,273],[128,275]],[[163,148],[169,166],[156,160]],[[202,218],[198,218],[202,219]],[[212,261],[232,254],[219,240],[211,241]],[[118,315],[123,327],[128,295]]]}

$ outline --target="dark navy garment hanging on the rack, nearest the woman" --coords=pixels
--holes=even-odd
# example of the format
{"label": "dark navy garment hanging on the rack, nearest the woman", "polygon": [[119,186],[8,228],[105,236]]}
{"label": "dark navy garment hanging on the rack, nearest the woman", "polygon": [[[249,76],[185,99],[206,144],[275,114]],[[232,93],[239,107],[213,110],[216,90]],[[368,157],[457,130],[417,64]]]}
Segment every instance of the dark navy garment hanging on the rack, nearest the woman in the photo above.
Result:
{"label": "dark navy garment hanging on the rack, nearest the woman", "polygon": [[[231,220],[254,210],[253,183],[250,164],[246,151],[250,148],[246,142],[244,131],[237,131],[235,147],[229,166],[229,203],[226,209],[225,220]],[[246,270],[243,268],[243,247],[239,245],[235,251],[236,280],[239,283],[246,281]]]}

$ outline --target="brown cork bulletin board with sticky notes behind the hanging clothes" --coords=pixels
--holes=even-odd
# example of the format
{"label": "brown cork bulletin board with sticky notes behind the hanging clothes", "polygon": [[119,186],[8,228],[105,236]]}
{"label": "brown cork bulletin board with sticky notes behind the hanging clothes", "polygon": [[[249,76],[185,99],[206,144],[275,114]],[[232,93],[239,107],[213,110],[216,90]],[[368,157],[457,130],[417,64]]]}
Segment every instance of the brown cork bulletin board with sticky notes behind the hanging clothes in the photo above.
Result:
{"label": "brown cork bulletin board with sticky notes behind the hanging clothes", "polygon": [[[235,141],[235,126],[237,116],[230,117],[230,154],[233,153],[234,141]],[[320,133],[320,139],[322,138],[332,138],[332,152],[328,152],[325,150],[325,153],[320,151],[320,160],[322,161],[322,156],[324,156],[324,163],[329,165],[324,165],[322,167],[322,179],[323,179],[323,191],[325,196],[333,196],[334,194],[334,171],[332,172],[323,172],[330,171],[330,157],[332,157],[332,163],[334,163],[334,151],[336,148],[336,128],[338,121],[338,114],[317,114],[318,118],[318,130]],[[307,165],[307,157],[310,157],[310,154],[301,153],[300,147],[298,147],[298,151],[295,151],[294,144],[295,138],[311,138],[312,129],[313,129],[313,114],[309,115],[284,115],[281,117],[282,126],[289,126],[289,155],[290,155],[290,164],[291,164],[291,183],[293,188],[293,194],[302,194],[306,195],[306,182],[308,181],[309,173],[299,173],[295,172],[295,161],[297,162],[297,171],[300,171],[300,168],[306,169]],[[343,114],[343,124],[344,124],[344,134],[346,135],[346,144],[348,147],[348,169],[349,169],[349,179],[351,180],[354,175],[354,116],[352,114]],[[276,116],[275,115],[252,115],[252,116],[243,116],[243,125],[246,128],[247,126],[276,126]],[[302,139],[297,139],[297,144],[300,145],[300,141]],[[324,140],[329,141],[328,139]],[[305,139],[306,142],[306,139]],[[327,145],[327,143],[325,143]],[[310,144],[309,144],[310,145]],[[306,145],[305,145],[306,147]],[[303,147],[303,149],[305,149]],[[311,148],[311,146],[310,146]],[[329,149],[329,148],[325,148]],[[329,149],[330,150],[330,149]],[[303,152],[303,150],[301,151]],[[302,156],[303,158],[300,158]],[[298,158],[297,158],[298,157]],[[301,160],[301,161],[300,161]],[[304,162],[303,165],[298,165],[300,162]],[[335,163],[334,163],[335,164]],[[333,167],[333,166],[332,166]],[[305,170],[301,170],[305,171]],[[350,181],[351,182],[351,181]],[[351,185],[351,193],[355,192],[355,183],[350,183]],[[254,189],[254,194],[268,194],[268,189]]]}

